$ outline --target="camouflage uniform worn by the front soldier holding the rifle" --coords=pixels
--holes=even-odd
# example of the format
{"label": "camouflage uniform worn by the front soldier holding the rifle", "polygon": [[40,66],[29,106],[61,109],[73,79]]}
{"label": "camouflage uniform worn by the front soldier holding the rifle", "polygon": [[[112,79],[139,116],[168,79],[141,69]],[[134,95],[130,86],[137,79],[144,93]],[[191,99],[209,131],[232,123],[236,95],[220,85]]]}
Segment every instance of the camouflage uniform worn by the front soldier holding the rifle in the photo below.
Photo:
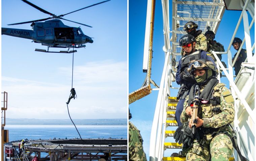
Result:
{"label": "camouflage uniform worn by the front soldier holding the rifle", "polygon": [[[201,127],[219,128],[216,135],[212,137],[211,132],[205,134],[203,130],[199,130],[200,140],[194,140],[192,148],[183,148],[183,153],[186,153],[186,160],[209,161],[211,156],[211,161],[227,161],[232,155],[233,144],[225,132],[232,136],[232,130],[228,124],[234,120],[234,100],[230,91],[224,86],[224,84],[219,83],[214,87],[214,96],[220,97],[220,105],[206,103],[202,105],[202,110],[198,111],[199,118],[204,121]],[[204,87],[200,87],[200,92]],[[189,106],[188,97],[181,114],[182,123],[189,120],[185,111],[187,106]],[[221,111],[213,110],[215,107],[219,107]]]}

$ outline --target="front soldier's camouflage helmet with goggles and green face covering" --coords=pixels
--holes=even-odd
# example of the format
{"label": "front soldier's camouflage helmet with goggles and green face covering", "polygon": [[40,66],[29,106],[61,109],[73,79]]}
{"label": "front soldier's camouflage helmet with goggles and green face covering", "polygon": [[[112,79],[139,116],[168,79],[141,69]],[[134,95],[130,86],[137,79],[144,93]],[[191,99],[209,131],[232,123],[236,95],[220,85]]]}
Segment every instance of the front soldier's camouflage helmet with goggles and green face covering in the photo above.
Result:
{"label": "front soldier's camouflage helmet with goggles and green face covering", "polygon": [[[205,74],[195,77],[194,71],[196,69],[204,69]],[[218,69],[216,68],[214,63],[207,59],[192,60],[188,65],[188,72],[194,75],[194,78],[199,85],[207,84],[211,78],[218,75]]]}

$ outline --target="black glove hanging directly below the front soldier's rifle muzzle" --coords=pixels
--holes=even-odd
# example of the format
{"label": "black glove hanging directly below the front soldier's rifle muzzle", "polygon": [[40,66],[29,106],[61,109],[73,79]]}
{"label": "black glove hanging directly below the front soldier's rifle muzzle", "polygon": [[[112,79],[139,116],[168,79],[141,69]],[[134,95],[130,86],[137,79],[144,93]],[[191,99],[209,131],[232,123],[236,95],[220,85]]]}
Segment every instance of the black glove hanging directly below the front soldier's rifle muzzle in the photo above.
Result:
{"label": "black glove hanging directly below the front soldier's rifle muzzle", "polygon": [[[187,123],[187,122],[186,122]],[[185,124],[186,124],[185,123]],[[199,140],[200,137],[199,137],[199,133],[197,131],[197,128],[195,130],[195,133],[194,135],[192,134],[192,129],[188,126],[188,123],[187,123],[187,126],[184,128],[184,132],[183,132],[183,137],[182,137],[182,144],[183,144],[183,147],[186,148],[186,147],[193,147],[193,141],[194,140]]]}

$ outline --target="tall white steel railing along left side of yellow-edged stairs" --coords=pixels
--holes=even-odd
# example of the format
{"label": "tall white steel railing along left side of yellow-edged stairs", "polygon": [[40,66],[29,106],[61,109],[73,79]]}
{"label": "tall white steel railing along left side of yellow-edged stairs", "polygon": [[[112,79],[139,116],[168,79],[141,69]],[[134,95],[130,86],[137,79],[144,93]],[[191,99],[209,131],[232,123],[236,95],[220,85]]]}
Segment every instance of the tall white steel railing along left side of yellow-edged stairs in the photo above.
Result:
{"label": "tall white steel railing along left side of yellow-edged stairs", "polygon": [[164,29],[164,47],[165,61],[163,73],[161,77],[154,120],[152,123],[151,136],[150,136],[150,161],[161,160],[164,153],[164,139],[165,139],[165,120],[167,108],[167,94],[170,93],[170,76],[171,73],[171,46],[170,46],[170,28],[169,28],[169,1],[162,0],[163,8],[163,29]]}

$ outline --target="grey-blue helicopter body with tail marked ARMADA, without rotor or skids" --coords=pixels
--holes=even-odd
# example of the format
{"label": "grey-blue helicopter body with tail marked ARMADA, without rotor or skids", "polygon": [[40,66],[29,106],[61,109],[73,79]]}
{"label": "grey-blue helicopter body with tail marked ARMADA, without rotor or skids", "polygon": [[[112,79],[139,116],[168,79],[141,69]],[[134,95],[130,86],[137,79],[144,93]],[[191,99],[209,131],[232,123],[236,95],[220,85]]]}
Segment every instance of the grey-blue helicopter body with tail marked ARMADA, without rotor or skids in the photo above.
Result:
{"label": "grey-blue helicopter body with tail marked ARMADA, without rotor or skids", "polygon": [[86,36],[81,28],[67,26],[59,19],[33,22],[31,26],[33,30],[2,28],[2,35],[31,39],[35,43],[53,47],[93,43],[92,38]]}

